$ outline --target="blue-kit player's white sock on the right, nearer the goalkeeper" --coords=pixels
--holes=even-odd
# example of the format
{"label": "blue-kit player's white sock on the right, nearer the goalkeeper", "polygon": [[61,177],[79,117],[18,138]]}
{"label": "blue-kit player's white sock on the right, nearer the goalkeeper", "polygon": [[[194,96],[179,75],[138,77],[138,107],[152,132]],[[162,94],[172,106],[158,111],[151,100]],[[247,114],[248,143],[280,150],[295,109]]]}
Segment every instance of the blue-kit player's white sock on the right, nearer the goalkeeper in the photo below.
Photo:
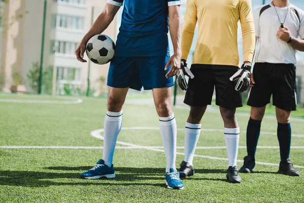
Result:
{"label": "blue-kit player's white sock on the right, nearer the goalkeeper", "polygon": [[174,114],[160,117],[160,130],[167,159],[166,173],[170,173],[170,168],[177,172],[175,167],[177,128]]}

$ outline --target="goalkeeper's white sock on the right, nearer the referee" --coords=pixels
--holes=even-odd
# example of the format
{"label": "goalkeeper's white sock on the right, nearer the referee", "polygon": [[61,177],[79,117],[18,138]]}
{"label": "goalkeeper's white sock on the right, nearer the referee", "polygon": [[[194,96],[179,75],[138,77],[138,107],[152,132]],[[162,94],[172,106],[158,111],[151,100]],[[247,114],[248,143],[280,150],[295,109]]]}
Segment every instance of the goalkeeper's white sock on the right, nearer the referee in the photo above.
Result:
{"label": "goalkeeper's white sock on the right, nearer the referee", "polygon": [[224,128],[229,166],[237,165],[240,128]]}

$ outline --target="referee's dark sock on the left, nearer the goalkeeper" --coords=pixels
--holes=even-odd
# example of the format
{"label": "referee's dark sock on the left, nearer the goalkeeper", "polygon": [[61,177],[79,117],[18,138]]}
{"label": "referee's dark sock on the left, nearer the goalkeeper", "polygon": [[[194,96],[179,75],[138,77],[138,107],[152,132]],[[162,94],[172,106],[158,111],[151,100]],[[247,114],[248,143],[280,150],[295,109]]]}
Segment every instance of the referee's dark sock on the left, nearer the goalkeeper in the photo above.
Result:
{"label": "referee's dark sock on the left, nearer the goalkeeper", "polygon": [[258,121],[250,118],[247,125],[247,133],[246,133],[247,154],[251,156],[252,160],[255,160],[254,155],[260,134],[261,122],[262,122],[261,120]]}

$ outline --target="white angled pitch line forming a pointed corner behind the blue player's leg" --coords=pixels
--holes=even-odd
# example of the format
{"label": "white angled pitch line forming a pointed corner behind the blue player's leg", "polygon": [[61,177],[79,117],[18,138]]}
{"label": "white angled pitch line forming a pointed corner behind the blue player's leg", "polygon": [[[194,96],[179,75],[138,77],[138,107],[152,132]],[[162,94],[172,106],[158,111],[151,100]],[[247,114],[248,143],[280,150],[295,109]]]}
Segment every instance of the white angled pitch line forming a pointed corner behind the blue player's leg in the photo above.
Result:
{"label": "white angled pitch line forming a pointed corner behind the blue player's leg", "polygon": [[[122,129],[159,129],[158,127],[123,127]],[[101,132],[103,132],[103,129],[98,129],[98,130],[94,130],[91,132],[91,136],[93,136],[94,138],[103,140],[103,136],[101,136]],[[156,148],[152,148],[152,147],[146,147],[146,146],[140,146],[140,145],[134,145],[131,143],[125,143],[125,142],[120,142],[117,141],[117,144],[121,144],[121,145],[126,145],[126,146],[137,146],[140,147],[141,149],[148,149],[148,150],[153,150],[153,151],[158,151],[158,152],[164,152],[163,149],[156,149]],[[184,153],[180,153],[180,152],[176,152],[176,154],[178,155],[184,155]],[[216,159],[216,160],[225,160],[227,161],[227,158],[220,158],[220,157],[215,157],[215,156],[204,156],[204,155],[197,155],[195,154],[194,156],[196,157],[201,157],[201,158],[208,158],[208,159]],[[237,160],[238,162],[242,162],[243,160]],[[279,164],[277,163],[264,163],[264,162],[256,162],[258,164],[262,164],[262,165],[275,165],[275,166],[279,166]],[[298,168],[304,168],[304,166],[301,165],[294,165],[295,167]]]}

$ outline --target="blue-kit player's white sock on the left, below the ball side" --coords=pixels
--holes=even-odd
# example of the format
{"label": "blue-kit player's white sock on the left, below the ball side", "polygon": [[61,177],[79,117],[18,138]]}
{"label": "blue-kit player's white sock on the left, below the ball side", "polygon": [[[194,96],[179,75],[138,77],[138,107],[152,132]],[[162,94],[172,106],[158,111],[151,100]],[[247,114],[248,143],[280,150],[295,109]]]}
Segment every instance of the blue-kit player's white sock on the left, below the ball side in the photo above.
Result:
{"label": "blue-kit player's white sock on the left, below the ball side", "polygon": [[115,145],[118,134],[122,128],[123,111],[121,112],[106,112],[103,131],[103,154],[102,159],[104,164],[111,167]]}

